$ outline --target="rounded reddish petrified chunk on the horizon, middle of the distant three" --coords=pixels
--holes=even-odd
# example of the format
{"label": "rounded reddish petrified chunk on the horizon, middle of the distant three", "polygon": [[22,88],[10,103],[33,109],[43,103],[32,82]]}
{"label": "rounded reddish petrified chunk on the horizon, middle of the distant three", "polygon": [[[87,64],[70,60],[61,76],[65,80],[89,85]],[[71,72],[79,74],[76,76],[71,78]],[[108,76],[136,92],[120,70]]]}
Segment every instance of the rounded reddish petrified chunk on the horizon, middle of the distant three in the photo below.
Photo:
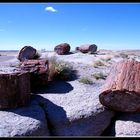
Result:
{"label": "rounded reddish petrified chunk on the horizon, middle of the distant three", "polygon": [[55,46],[54,51],[59,55],[68,54],[70,52],[70,45],[68,43],[62,43]]}

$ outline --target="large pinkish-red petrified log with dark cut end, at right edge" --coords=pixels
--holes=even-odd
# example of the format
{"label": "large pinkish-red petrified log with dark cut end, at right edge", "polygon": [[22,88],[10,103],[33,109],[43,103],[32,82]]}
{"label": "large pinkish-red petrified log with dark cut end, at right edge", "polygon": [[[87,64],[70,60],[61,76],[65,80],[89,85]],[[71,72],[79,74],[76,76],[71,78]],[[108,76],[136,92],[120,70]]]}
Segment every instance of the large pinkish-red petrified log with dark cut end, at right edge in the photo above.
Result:
{"label": "large pinkish-red petrified log with dark cut end, at right edge", "polygon": [[140,111],[140,62],[116,63],[106,79],[100,102],[115,111]]}

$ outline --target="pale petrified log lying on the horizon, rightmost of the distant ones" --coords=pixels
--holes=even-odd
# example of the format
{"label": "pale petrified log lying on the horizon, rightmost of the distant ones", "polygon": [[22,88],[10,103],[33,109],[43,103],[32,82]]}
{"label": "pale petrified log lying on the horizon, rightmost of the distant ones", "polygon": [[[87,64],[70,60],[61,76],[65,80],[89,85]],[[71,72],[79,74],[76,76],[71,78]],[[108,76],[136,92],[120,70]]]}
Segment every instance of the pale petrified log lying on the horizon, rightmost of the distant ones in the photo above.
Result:
{"label": "pale petrified log lying on the horizon, rightmost of the distant ones", "polygon": [[95,44],[84,44],[80,47],[76,47],[76,51],[82,53],[95,53],[97,51],[97,46]]}

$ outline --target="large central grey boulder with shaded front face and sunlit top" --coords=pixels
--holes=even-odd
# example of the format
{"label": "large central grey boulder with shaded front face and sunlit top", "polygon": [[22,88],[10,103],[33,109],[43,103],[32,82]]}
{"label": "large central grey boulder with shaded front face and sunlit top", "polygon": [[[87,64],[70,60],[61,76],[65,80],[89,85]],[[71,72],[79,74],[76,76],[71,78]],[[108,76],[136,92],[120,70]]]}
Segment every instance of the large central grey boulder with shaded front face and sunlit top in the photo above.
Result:
{"label": "large central grey boulder with shaded front face and sunlit top", "polygon": [[100,104],[99,88],[78,81],[58,81],[39,95],[37,100],[44,103],[50,132],[55,136],[100,136],[114,116]]}

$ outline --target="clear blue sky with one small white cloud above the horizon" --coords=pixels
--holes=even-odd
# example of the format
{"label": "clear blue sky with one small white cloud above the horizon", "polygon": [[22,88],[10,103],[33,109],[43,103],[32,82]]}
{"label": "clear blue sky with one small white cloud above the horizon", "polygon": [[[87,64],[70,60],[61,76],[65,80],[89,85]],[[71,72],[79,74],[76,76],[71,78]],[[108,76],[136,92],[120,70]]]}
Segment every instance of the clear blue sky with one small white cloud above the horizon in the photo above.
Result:
{"label": "clear blue sky with one small white cloud above the horizon", "polygon": [[138,3],[0,3],[0,50],[96,44],[140,49]]}

